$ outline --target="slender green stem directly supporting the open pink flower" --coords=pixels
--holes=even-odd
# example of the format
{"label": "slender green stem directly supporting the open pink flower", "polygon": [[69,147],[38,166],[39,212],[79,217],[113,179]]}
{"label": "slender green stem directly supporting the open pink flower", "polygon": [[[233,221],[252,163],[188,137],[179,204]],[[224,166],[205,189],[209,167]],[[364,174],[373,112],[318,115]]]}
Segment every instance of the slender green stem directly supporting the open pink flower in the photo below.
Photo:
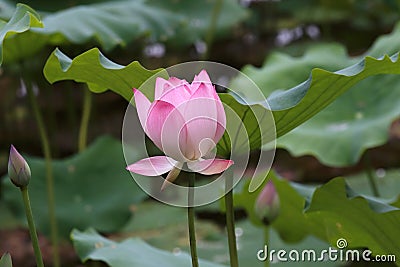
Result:
{"label": "slender green stem directly supporting the open pink flower", "polygon": [[194,228],[194,181],[195,174],[188,173],[189,176],[189,189],[188,189],[188,226],[189,226],[189,244],[190,244],[190,255],[192,256],[192,266],[198,267],[199,260],[197,257],[197,246],[196,246],[196,230]]}

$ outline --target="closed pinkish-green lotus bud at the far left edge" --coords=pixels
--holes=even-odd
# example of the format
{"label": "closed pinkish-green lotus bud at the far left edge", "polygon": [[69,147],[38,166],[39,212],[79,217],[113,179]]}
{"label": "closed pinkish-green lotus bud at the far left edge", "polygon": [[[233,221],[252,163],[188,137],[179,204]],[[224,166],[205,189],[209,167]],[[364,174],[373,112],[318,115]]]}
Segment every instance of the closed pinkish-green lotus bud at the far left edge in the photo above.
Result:
{"label": "closed pinkish-green lotus bud at the far left edge", "polygon": [[8,175],[11,182],[17,187],[26,187],[31,179],[31,170],[28,163],[13,145],[11,145],[8,159]]}

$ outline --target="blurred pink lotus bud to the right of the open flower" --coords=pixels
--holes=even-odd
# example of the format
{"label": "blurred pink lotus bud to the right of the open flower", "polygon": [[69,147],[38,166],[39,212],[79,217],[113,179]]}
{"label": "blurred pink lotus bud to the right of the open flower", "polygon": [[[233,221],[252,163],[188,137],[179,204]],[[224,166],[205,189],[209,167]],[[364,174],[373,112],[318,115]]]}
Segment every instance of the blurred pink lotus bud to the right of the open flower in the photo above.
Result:
{"label": "blurred pink lotus bud to the right of the open flower", "polygon": [[261,191],[255,203],[255,212],[266,225],[271,224],[279,214],[279,196],[272,181]]}

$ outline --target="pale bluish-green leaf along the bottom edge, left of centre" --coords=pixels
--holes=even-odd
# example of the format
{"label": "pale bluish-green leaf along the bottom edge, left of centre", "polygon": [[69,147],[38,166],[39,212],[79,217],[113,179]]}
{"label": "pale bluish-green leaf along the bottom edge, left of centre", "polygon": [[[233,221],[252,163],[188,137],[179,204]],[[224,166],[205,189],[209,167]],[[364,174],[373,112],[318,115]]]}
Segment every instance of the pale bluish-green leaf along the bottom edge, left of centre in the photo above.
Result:
{"label": "pale bluish-green leaf along the bottom edge, left of centre", "polygon": [[[139,238],[115,242],[99,235],[94,229],[84,232],[74,229],[71,239],[82,261],[103,261],[111,267],[186,267],[191,264],[187,253],[174,255],[154,248]],[[199,262],[204,267],[223,267],[204,260]]]}

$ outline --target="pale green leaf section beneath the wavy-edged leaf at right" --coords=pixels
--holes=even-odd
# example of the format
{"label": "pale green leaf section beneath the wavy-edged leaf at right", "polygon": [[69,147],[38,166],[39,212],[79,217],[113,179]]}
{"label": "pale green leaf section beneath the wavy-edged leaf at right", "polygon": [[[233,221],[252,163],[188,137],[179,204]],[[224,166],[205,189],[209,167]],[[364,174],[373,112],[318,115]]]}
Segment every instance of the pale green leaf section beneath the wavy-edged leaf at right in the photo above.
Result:
{"label": "pale green leaf section beneath the wavy-edged leaf at right", "polygon": [[386,143],[399,115],[400,76],[370,77],[278,139],[278,147],[294,156],[314,155],[330,166],[352,165],[365,149]]}

